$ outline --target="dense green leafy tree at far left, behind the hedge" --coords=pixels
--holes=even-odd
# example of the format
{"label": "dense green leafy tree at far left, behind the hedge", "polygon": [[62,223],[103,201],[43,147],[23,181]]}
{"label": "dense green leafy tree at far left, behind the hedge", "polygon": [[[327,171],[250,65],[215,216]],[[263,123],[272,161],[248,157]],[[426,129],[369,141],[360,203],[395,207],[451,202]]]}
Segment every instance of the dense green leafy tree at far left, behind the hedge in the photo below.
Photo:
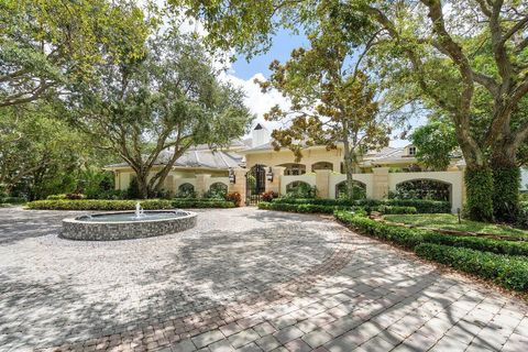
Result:
{"label": "dense green leafy tree at far left, behind the hedge", "polygon": [[86,165],[98,155],[47,103],[1,108],[0,186],[30,199],[74,191]]}

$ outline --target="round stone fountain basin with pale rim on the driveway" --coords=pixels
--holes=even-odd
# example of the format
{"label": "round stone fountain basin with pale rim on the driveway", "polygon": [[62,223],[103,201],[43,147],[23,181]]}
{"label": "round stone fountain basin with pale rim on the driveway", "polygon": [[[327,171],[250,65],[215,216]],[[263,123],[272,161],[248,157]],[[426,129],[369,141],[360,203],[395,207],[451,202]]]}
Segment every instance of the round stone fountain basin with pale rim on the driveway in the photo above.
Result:
{"label": "round stone fountain basin with pale rim on the driveway", "polygon": [[196,212],[145,210],[95,213],[63,220],[61,237],[69,240],[112,241],[142,239],[184,231],[196,226]]}

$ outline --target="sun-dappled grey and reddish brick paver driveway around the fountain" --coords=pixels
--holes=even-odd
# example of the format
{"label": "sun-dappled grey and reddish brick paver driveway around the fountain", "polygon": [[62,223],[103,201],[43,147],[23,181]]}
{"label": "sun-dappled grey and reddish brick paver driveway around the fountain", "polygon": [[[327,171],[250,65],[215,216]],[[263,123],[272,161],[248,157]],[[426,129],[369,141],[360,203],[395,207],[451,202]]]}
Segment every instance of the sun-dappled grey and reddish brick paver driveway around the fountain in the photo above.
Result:
{"label": "sun-dappled grey and reddish brick paver driveway around the fountain", "polygon": [[57,238],[0,209],[0,350],[528,351],[527,306],[331,219],[205,210],[160,238]]}

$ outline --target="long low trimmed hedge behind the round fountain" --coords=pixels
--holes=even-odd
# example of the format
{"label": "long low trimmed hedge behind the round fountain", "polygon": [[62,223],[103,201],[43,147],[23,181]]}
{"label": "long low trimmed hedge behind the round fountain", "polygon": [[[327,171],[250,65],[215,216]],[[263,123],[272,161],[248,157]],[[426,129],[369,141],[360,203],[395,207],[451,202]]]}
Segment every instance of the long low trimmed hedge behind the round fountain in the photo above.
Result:
{"label": "long low trimmed hedge behind the round fountain", "polygon": [[[173,208],[234,208],[232,201],[224,200],[196,200],[196,199],[146,199],[141,200],[141,207],[146,210]],[[26,204],[29,209],[47,210],[134,210],[138,200],[35,200]]]}

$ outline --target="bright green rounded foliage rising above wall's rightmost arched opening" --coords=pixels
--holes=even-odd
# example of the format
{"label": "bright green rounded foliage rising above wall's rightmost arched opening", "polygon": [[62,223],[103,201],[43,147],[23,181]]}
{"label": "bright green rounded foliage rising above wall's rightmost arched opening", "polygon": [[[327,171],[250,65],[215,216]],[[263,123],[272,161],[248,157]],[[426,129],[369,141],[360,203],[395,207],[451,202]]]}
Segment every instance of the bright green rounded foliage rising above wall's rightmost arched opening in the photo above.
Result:
{"label": "bright green rounded foliage rising above wall's rightmost arched opening", "polygon": [[435,170],[446,170],[458,146],[452,123],[440,120],[418,127],[410,135],[417,147],[416,158]]}

